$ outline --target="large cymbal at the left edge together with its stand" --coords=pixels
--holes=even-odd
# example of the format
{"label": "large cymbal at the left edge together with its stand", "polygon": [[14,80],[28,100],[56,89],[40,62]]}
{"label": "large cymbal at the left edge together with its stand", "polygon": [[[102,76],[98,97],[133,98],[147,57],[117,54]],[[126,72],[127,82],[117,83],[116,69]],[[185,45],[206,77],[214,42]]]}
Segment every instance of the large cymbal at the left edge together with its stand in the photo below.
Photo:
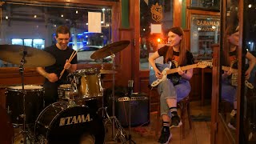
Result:
{"label": "large cymbal at the left edge together with its stand", "polygon": [[[22,110],[23,114],[20,117],[23,119],[22,131],[19,134],[23,135],[23,141],[26,144],[26,138],[30,137],[30,133],[26,130],[26,92],[24,90],[24,66],[38,67],[38,66],[50,66],[53,65],[56,60],[55,58],[43,51],[38,50],[29,46],[19,46],[19,45],[0,45],[0,58],[5,62],[10,62],[19,65],[19,72],[22,77]],[[44,61],[38,62],[38,59],[44,59]],[[17,134],[15,137],[17,137]],[[15,138],[14,137],[14,138]],[[30,142],[32,139],[30,139]]]}

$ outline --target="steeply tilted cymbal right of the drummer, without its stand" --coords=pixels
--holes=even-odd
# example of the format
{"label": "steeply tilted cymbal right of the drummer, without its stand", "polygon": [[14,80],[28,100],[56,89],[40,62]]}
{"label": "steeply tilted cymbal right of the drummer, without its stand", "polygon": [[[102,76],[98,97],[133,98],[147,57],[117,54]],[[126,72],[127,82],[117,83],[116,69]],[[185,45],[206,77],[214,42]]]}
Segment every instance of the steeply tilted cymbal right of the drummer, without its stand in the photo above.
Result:
{"label": "steeply tilted cymbal right of the drummer, without its stand", "polygon": [[111,54],[116,54],[119,51],[125,49],[129,44],[130,44],[130,41],[119,41],[119,42],[110,43],[109,45],[106,45],[101,49],[96,50],[94,54],[91,54],[90,58],[92,59],[106,58]]}

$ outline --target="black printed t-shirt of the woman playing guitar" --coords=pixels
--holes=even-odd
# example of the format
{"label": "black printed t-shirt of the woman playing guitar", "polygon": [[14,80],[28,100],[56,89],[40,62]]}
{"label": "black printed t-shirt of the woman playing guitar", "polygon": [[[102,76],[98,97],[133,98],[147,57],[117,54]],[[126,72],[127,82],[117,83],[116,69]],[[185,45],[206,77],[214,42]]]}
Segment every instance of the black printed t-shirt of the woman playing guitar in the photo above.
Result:
{"label": "black printed t-shirt of the woman playing guitar", "polygon": [[[168,49],[169,49],[169,46],[163,46],[162,48],[158,49],[158,54],[160,56],[163,56],[163,63],[166,63],[165,59],[166,59],[166,53],[167,53]],[[173,55],[173,58],[171,59],[171,61],[174,60],[174,61],[178,62],[179,52],[174,51],[173,54],[174,55]],[[194,64],[193,54],[190,53],[190,51],[186,51],[186,65],[192,65],[192,64]]]}

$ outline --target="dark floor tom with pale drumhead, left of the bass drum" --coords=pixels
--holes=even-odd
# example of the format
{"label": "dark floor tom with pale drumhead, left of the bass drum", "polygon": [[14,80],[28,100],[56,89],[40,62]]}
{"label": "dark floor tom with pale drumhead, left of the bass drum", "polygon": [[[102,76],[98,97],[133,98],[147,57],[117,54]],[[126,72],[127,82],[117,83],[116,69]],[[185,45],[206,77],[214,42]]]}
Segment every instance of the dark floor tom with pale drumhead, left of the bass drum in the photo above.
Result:
{"label": "dark floor tom with pale drumhead, left of the bass drum", "polygon": [[[24,85],[24,92],[26,123],[34,123],[43,110],[44,90],[42,86]],[[23,114],[22,86],[6,87],[6,109],[14,126],[23,123],[23,118],[20,117]]]}

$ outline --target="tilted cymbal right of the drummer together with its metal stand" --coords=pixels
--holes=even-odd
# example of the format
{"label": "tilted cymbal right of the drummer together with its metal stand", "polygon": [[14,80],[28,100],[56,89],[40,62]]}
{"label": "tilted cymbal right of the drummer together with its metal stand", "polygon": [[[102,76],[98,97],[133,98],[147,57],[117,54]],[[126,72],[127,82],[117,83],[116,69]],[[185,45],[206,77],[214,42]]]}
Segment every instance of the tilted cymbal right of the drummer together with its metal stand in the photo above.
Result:
{"label": "tilted cymbal right of the drummer together with its metal stand", "polygon": [[[111,61],[112,61],[112,80],[113,80],[113,85],[112,85],[112,116],[109,117],[106,111],[106,107],[102,107],[99,110],[103,110],[102,114],[106,114],[106,122],[110,122],[112,124],[112,138],[114,141],[117,140],[118,137],[121,138],[122,142],[126,142],[126,132],[123,130],[120,122],[118,122],[118,118],[115,117],[114,114],[114,104],[116,101],[116,98],[114,96],[114,84],[115,84],[115,62],[114,62],[114,57],[115,54],[118,53],[119,51],[125,49],[128,45],[130,44],[130,41],[120,41],[120,42],[114,42],[109,45],[106,45],[102,47],[102,49],[96,50],[94,54],[90,56],[92,59],[100,59],[100,58],[106,58],[107,56],[110,56]],[[103,98],[102,98],[103,99]],[[104,105],[102,105],[104,106]],[[118,132],[114,136],[114,128],[117,126]]]}

